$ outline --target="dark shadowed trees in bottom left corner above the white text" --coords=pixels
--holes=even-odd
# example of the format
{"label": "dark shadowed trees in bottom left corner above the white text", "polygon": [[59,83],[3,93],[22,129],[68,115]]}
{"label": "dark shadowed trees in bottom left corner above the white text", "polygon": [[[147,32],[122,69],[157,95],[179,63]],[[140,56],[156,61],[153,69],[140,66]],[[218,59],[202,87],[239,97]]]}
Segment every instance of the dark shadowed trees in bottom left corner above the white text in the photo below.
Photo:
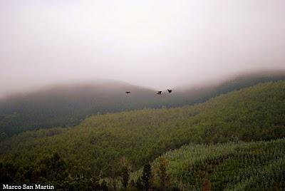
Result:
{"label": "dark shadowed trees in bottom left corner above the white text", "polygon": [[37,164],[14,164],[11,161],[0,162],[0,184],[50,184],[56,190],[108,190],[106,182],[98,177],[68,175],[66,162],[58,155],[42,156]]}

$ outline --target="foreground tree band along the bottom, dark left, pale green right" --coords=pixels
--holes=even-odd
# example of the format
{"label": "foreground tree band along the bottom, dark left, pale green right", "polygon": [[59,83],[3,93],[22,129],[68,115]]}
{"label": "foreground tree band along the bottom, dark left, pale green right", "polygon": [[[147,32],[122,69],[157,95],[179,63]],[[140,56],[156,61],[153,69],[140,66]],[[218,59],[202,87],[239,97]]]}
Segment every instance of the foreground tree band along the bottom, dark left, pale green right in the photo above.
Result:
{"label": "foreground tree band along the bottom, dark left, pale green right", "polygon": [[[126,158],[108,177],[71,175],[58,153],[38,164],[0,162],[1,184],[53,185],[63,190],[284,190],[285,139],[185,145],[133,171]],[[133,172],[132,172],[133,171]]]}

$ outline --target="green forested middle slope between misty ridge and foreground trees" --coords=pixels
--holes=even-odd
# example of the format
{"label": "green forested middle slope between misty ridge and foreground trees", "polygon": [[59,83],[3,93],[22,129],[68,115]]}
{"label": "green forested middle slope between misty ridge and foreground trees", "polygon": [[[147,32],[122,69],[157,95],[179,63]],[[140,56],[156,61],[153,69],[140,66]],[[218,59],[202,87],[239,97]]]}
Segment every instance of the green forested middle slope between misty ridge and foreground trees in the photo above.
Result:
{"label": "green forested middle slope between misty ridge and foreground trees", "polygon": [[[64,160],[64,172],[71,177],[116,177],[122,173],[122,159],[138,170],[167,150],[185,144],[284,138],[284,99],[285,81],[279,81],[243,88],[193,106],[93,115],[74,128],[36,130],[4,140],[0,143],[0,161],[4,170],[8,164],[24,171],[30,169],[31,175],[36,175],[45,158],[60,158]],[[221,158],[227,158],[227,154],[232,155],[231,150]],[[277,159],[275,162],[283,164]],[[17,173],[25,175],[19,170]],[[36,177],[41,176],[45,174]],[[236,181],[231,178],[235,177],[229,176],[227,181]],[[197,182],[201,181],[199,177]],[[182,186],[189,185],[182,182]]]}

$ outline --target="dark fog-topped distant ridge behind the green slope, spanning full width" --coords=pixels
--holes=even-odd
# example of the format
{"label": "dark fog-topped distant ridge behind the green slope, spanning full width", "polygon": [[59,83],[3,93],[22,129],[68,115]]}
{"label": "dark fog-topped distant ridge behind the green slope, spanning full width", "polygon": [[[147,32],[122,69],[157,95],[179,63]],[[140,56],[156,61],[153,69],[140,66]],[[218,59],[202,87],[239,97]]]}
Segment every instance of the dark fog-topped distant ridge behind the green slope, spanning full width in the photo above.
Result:
{"label": "dark fog-topped distant ridge behind the green slope, spanning full width", "polygon": [[[284,72],[249,73],[219,84],[177,88],[171,94],[126,83],[56,86],[0,100],[0,140],[26,130],[71,127],[89,115],[142,108],[181,107],[202,103],[222,93],[267,81],[284,80]],[[125,95],[130,91],[130,95]]]}

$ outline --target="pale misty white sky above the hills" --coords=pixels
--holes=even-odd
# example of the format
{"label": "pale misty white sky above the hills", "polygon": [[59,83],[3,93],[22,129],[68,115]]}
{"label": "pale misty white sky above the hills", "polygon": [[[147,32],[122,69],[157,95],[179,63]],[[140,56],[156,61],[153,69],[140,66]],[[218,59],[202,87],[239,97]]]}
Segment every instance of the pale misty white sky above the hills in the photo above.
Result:
{"label": "pale misty white sky above the hills", "polygon": [[0,96],[96,79],[172,88],[281,69],[284,0],[0,0]]}

